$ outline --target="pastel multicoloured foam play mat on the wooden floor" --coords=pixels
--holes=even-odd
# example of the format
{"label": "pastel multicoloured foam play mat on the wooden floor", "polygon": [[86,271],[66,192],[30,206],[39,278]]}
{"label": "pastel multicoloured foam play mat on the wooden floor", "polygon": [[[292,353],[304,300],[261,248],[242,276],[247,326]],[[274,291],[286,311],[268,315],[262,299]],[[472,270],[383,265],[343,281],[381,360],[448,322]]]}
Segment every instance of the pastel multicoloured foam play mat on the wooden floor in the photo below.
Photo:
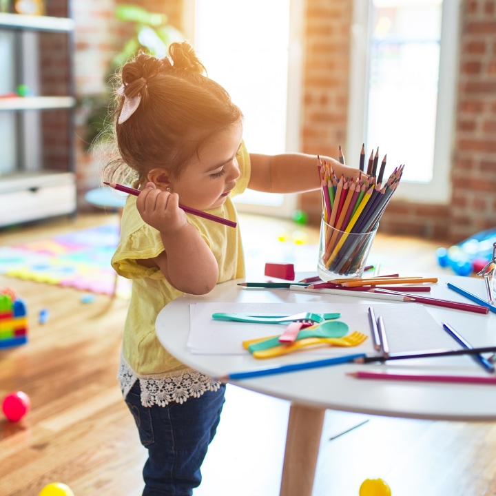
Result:
{"label": "pastel multicoloured foam play mat on the wooden floor", "polygon": [[[0,247],[0,273],[13,278],[111,295],[115,272],[116,223],[81,229],[54,238]],[[116,296],[129,298],[130,282],[118,278]]]}

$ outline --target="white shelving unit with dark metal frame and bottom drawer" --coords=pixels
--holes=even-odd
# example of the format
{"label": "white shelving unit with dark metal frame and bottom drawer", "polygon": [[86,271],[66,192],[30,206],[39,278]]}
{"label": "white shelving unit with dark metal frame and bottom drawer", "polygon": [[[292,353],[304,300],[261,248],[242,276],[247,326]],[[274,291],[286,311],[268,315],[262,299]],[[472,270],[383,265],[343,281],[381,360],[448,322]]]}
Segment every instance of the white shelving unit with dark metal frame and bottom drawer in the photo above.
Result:
{"label": "white shelving unit with dark metal frame and bottom drawer", "polygon": [[[43,71],[53,70],[42,60],[46,54],[41,54],[40,40],[45,32],[65,37],[65,94],[43,94]],[[0,227],[76,212],[73,32],[69,17],[0,12]],[[22,84],[30,88],[28,96],[14,94]],[[46,111],[64,112],[63,124],[52,123],[60,143],[46,143]],[[60,159],[50,163],[48,146],[66,157],[63,164]]]}

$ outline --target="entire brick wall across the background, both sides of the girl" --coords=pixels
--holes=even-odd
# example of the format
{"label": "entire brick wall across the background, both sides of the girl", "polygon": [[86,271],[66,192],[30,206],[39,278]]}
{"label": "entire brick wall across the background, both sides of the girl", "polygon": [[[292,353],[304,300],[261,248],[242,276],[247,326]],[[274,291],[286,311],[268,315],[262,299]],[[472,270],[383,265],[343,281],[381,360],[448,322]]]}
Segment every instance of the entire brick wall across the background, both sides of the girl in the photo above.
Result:
{"label": "entire brick wall across the background, both sides of the girl", "polygon": [[[52,0],[58,1],[58,0]],[[99,92],[112,54],[123,39],[114,20],[115,0],[76,0],[76,91]],[[181,0],[140,0],[181,26]],[[453,198],[450,205],[393,200],[380,229],[458,242],[496,226],[496,0],[462,0],[459,90],[453,136]],[[307,0],[302,151],[337,156],[346,143],[351,0]],[[79,116],[81,135],[81,116]],[[78,138],[80,139],[80,138]],[[98,184],[92,157],[77,149],[81,192]],[[304,194],[300,208],[312,223],[320,194]]]}

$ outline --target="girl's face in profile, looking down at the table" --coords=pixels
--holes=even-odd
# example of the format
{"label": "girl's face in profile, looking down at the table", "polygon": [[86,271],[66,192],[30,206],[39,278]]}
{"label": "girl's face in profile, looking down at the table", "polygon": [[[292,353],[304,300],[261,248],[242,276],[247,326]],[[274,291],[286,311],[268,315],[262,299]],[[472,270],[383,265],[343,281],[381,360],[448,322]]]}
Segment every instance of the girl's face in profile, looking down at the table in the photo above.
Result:
{"label": "girl's face in profile, looking down at the table", "polygon": [[240,176],[237,153],[242,137],[242,125],[230,127],[212,136],[173,180],[172,191],[179,202],[199,210],[220,207]]}

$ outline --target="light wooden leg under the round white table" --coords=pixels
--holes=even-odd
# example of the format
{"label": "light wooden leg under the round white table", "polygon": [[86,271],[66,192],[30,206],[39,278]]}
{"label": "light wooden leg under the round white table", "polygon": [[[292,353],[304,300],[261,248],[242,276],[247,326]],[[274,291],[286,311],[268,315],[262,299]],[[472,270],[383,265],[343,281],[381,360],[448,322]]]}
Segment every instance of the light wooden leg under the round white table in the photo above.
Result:
{"label": "light wooden leg under the round white table", "polygon": [[280,496],[311,496],[325,409],[291,404]]}

